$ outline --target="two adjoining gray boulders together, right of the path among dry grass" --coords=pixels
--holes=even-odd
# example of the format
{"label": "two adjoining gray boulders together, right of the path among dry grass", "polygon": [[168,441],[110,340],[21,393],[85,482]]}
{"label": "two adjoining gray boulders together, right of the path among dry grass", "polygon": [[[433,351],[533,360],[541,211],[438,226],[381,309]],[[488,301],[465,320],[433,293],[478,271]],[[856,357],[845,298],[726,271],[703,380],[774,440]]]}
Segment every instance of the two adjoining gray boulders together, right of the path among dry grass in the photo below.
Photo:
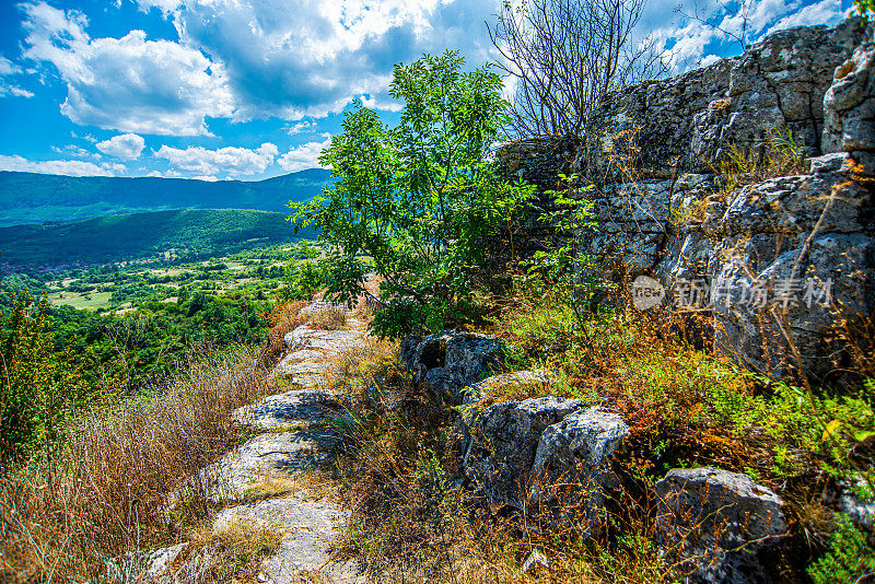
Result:
{"label": "two adjoining gray boulders together, right of the path among dry grass", "polygon": [[557,525],[592,535],[604,489],[616,486],[610,457],[629,434],[619,416],[578,399],[541,397],[482,410],[471,405],[460,418],[463,468],[475,489],[493,505],[540,509]]}

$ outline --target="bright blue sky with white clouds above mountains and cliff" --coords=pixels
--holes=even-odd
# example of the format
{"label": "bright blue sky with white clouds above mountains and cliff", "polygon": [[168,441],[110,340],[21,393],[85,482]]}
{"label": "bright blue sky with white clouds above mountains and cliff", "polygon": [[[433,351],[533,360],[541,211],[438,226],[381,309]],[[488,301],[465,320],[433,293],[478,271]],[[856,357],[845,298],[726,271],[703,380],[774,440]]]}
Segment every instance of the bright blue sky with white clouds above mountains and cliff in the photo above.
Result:
{"label": "bright blue sky with white clouds above mountains and cliff", "polygon": [[[517,0],[518,1],[518,0]],[[649,0],[673,71],[736,55],[738,0]],[[0,0],[0,170],[255,180],[317,166],[345,108],[394,122],[396,62],[495,52],[500,0]],[[745,0],[751,40],[849,0]]]}

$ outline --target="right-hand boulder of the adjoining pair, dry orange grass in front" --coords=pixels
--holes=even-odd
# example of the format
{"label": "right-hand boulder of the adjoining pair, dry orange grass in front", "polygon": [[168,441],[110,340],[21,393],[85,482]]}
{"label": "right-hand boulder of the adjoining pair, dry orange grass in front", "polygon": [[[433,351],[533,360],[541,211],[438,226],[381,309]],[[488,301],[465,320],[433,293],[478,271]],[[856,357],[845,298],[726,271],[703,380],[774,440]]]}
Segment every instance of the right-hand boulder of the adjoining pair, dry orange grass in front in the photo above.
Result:
{"label": "right-hand boulder of the adjoining pair, dry orange grass in front", "polygon": [[592,533],[604,501],[603,487],[614,483],[609,459],[629,427],[616,413],[590,408],[575,411],[548,427],[538,441],[530,503],[559,505],[563,518],[580,523],[585,537]]}

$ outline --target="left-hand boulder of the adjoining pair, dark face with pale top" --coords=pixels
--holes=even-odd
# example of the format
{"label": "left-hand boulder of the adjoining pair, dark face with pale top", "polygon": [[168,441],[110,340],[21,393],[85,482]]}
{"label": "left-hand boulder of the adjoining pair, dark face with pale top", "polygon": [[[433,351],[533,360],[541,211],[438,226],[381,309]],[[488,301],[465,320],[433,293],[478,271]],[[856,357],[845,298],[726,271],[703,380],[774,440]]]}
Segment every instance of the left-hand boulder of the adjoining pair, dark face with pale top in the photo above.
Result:
{"label": "left-hand boulder of the adjoining pair, dark face with pale top", "polygon": [[541,434],[581,406],[541,397],[486,408],[470,425],[463,460],[468,479],[495,503],[523,509]]}

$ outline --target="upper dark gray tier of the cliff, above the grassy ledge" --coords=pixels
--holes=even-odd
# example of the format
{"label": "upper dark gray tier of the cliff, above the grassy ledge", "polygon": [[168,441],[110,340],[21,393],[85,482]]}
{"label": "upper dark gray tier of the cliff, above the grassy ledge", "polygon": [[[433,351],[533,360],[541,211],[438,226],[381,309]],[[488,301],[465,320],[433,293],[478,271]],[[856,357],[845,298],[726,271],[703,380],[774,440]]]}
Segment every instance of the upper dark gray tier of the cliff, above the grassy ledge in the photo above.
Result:
{"label": "upper dark gray tier of the cliff, above the grassy ledge", "polygon": [[732,144],[761,149],[779,127],[816,151],[833,71],[863,37],[859,20],[781,31],[739,57],[608,94],[575,171],[597,185],[628,180],[623,160],[634,163],[632,180],[708,173]]}

